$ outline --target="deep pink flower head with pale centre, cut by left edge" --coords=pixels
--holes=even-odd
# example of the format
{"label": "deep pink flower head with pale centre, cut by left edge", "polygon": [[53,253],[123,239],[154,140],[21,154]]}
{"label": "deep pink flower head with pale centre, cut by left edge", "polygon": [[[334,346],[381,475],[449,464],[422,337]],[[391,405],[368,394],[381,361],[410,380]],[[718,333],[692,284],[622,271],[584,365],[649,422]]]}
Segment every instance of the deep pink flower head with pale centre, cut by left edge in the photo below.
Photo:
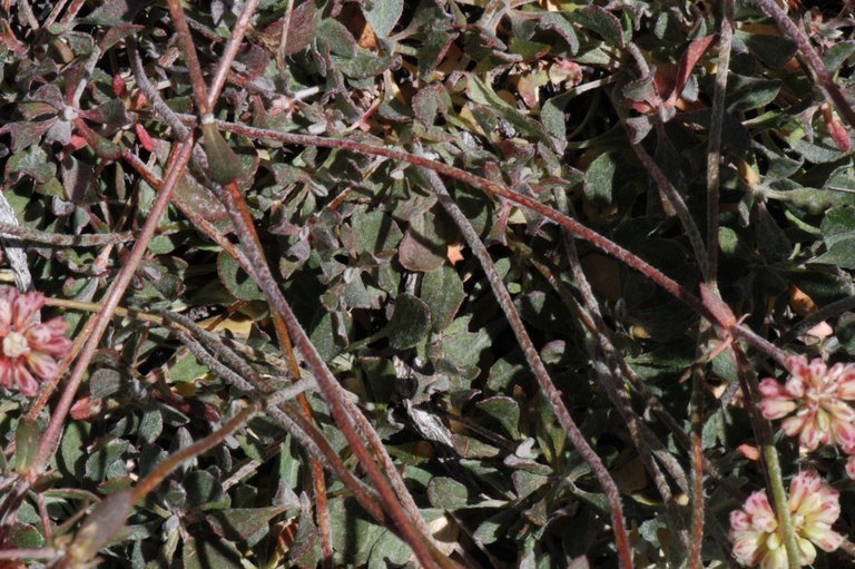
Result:
{"label": "deep pink flower head with pale centre, cut by left edge", "polygon": [[40,293],[0,290],[0,385],[17,386],[24,395],[35,394],[39,382],[56,377],[57,360],[71,349],[61,317],[38,322],[42,306]]}

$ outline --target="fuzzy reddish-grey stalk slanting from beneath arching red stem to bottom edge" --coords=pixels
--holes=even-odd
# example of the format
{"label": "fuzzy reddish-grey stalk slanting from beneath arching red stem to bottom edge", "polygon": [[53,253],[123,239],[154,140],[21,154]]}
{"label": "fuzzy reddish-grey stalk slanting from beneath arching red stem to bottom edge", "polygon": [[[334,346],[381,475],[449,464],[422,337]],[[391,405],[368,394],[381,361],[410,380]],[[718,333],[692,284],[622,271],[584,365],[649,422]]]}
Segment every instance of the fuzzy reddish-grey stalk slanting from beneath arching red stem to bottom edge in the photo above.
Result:
{"label": "fuzzy reddish-grey stalk slanting from beneath arching red stem to bottom edge", "polygon": [[499,275],[499,272],[497,271],[492,258],[490,258],[490,254],[488,253],[487,247],[484,246],[483,242],[481,242],[478,232],[475,232],[466,216],[454,203],[454,199],[452,199],[451,195],[449,195],[448,189],[445,189],[445,185],[442,183],[442,179],[440,179],[436,173],[428,169],[422,169],[421,171],[428,179],[433,192],[436,194],[440,204],[458,225],[461,234],[463,234],[463,238],[466,241],[466,244],[470,246],[479,263],[481,264],[481,267],[487,275],[488,282],[490,283],[490,287],[493,291],[493,295],[499,302],[499,305],[502,307],[502,312],[508,318],[508,322],[511,325],[514,335],[517,336],[517,342],[520,344],[520,347],[522,347],[525,361],[528,362],[529,367],[531,367],[534,376],[538,380],[538,385],[540,386],[541,393],[549,402],[552,411],[558,418],[559,423],[561,423],[561,426],[563,426],[567,431],[568,436],[570,438],[570,441],[572,442],[577,452],[579,452],[582,459],[584,459],[584,461],[591,467],[591,470],[597,477],[597,480],[599,481],[600,487],[602,488],[606,498],[608,499],[609,508],[611,510],[611,523],[615,531],[615,542],[618,548],[620,566],[625,569],[631,568],[632,549],[629,542],[629,533],[627,532],[626,521],[623,519],[623,506],[620,500],[620,490],[618,490],[618,485],[615,483],[615,479],[611,478],[609,470],[602,463],[600,457],[588,444],[584,435],[579,430],[579,426],[577,426],[573,418],[570,415],[570,411],[564,405],[564,402],[561,399],[561,392],[559,392],[558,389],[556,389],[554,383],[552,383],[552,380],[549,376],[549,372],[547,371],[546,365],[543,365],[543,361],[540,359],[540,354],[529,337],[529,333],[525,331],[525,326],[523,325],[522,320],[520,318],[520,315],[513,305],[513,300],[508,293],[508,288],[505,288],[504,283],[502,282],[502,277]]}

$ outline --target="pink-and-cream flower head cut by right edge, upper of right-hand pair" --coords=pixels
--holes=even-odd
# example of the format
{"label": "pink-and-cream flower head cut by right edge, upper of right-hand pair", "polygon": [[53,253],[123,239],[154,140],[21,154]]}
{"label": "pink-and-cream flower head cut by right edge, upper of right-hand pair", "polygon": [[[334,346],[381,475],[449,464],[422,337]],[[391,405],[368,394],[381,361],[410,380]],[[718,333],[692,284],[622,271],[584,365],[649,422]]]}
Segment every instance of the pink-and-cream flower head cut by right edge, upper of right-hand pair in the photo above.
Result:
{"label": "pink-and-cream flower head cut by right edge, upper of right-hand pair", "polygon": [[760,382],[760,411],[766,419],[784,419],[782,430],[808,451],[820,444],[838,444],[855,453],[855,365],[834,364],[803,356],[787,359],[789,377],[780,384],[772,377]]}

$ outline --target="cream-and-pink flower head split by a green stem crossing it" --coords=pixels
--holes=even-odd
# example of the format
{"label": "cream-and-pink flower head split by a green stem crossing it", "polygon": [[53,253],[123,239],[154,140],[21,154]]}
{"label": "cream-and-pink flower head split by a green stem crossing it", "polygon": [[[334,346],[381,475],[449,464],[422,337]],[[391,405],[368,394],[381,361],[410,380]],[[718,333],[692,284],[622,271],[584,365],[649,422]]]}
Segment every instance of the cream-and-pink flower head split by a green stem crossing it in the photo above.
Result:
{"label": "cream-and-pink flower head split by a green stem crossing it", "polygon": [[[810,565],[816,559],[816,547],[834,551],[843,537],[832,531],[841,514],[839,494],[816,472],[802,472],[793,478],[787,500],[793,528],[798,543],[798,563]],[[766,493],[754,492],[741,510],[730,512],[730,541],[734,557],[746,567],[760,565],[763,569],[786,569],[787,550],[784,534]]]}

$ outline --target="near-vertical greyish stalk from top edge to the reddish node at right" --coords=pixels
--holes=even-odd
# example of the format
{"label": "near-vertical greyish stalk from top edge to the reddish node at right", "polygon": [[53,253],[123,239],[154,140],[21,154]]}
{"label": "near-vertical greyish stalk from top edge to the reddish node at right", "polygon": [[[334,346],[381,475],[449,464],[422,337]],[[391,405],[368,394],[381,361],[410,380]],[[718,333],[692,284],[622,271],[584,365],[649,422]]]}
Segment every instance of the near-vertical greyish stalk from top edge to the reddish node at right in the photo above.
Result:
{"label": "near-vertical greyish stalk from top edge to the reddish node at right", "polygon": [[721,163],[721,122],[725,115],[727,75],[730,70],[730,48],[734,40],[734,0],[721,0],[721,28],[718,35],[718,63],[712,91],[707,141],[707,251],[710,271],[718,274],[718,203]]}

